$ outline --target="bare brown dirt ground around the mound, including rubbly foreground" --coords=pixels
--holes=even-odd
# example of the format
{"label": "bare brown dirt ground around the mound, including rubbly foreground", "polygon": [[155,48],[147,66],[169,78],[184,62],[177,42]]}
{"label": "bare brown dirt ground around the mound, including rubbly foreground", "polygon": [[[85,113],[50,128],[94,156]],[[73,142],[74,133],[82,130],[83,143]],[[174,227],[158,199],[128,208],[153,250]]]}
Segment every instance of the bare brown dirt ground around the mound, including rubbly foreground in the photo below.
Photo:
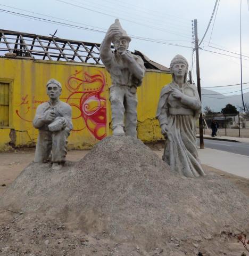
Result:
{"label": "bare brown dirt ground around the mound, including rubbly foreground", "polygon": [[[155,154],[159,157],[163,154],[163,144],[156,143],[147,145]],[[84,157],[90,150],[71,150],[68,152],[68,161],[79,161]],[[20,149],[11,152],[5,152],[0,154],[0,197],[4,191],[10,186],[20,172],[30,162],[33,161],[35,154],[34,148]],[[220,175],[223,179],[227,179],[234,183],[242,193],[249,196],[249,179],[238,177],[233,174],[229,174],[210,166],[203,165],[207,171],[214,172]],[[79,255],[79,256],[114,256],[114,255],[150,255],[150,256],[184,256],[185,251],[181,250],[181,242],[177,238],[170,238],[168,244],[176,247],[175,252],[169,253],[169,249],[154,248],[150,253],[146,253],[140,249],[139,245],[134,245],[132,251],[127,253],[129,244],[117,244],[110,240],[109,234],[103,231],[103,234],[96,234],[94,236],[87,233],[78,233],[78,231],[72,231],[68,226],[65,226],[57,219],[44,219],[42,215],[29,215],[24,216],[20,212],[1,212],[0,210],[0,244],[3,239],[2,246],[0,247],[0,255],[14,256],[14,255],[32,255],[32,256],[59,256],[59,255]],[[3,218],[4,217],[4,218]],[[28,225],[27,223],[30,223]],[[28,227],[28,228],[27,228]],[[30,234],[32,234],[30,236]],[[28,239],[27,237],[31,237]],[[210,238],[207,238],[210,239]],[[217,244],[212,244],[210,240],[200,241],[196,238],[195,242],[189,243],[190,247],[194,246],[193,255],[246,255],[241,254],[243,251],[243,245],[237,243],[237,236],[229,234],[221,234],[220,237],[216,238]],[[229,242],[228,251],[222,248],[221,242],[223,240]],[[9,243],[4,243],[6,241]],[[10,243],[10,241],[12,241]],[[202,244],[203,243],[203,244]],[[200,246],[206,245],[205,250],[200,253]],[[3,247],[4,246],[4,247]],[[220,247],[219,254],[212,253],[211,247]],[[209,248],[210,247],[210,248]],[[168,248],[168,247],[167,247]],[[78,251],[77,251],[78,250]],[[130,250],[130,249],[129,249]],[[20,254],[20,252],[22,252]],[[203,253],[204,252],[204,253]],[[234,253],[236,252],[236,253]],[[238,253],[239,252],[239,253]],[[14,253],[14,254],[13,254]],[[59,253],[59,254],[58,254]],[[192,255],[192,254],[187,254]]]}

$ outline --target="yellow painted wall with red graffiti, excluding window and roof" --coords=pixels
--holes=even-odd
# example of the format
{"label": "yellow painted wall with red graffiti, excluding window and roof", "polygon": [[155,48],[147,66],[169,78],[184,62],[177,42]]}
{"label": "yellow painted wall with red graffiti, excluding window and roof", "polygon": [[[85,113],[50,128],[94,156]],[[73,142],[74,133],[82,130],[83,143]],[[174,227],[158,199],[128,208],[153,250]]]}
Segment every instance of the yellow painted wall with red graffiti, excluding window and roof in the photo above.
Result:
{"label": "yellow painted wall with red graffiti, excluding window and roof", "polygon": [[[12,91],[10,127],[0,127],[0,150],[9,142],[16,147],[35,145],[38,130],[32,119],[37,106],[48,99],[46,83],[50,78],[61,82],[61,100],[72,106],[70,148],[88,148],[110,134],[111,78],[103,66],[0,58],[0,67],[0,81],[10,81]],[[155,113],[161,88],[170,81],[170,74],[146,71],[138,88],[138,138],[144,141],[162,138]]]}

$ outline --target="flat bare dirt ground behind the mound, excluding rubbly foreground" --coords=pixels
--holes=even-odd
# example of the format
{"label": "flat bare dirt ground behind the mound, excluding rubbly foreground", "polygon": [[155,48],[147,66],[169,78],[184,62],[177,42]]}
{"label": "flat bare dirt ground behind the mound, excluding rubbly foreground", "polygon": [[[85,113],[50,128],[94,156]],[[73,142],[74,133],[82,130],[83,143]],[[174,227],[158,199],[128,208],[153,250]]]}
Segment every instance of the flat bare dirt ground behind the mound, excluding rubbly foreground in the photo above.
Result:
{"label": "flat bare dirt ground behind the mound, excluding rubbly foreground", "polygon": [[[160,157],[162,156],[162,143],[152,143],[147,146],[149,146],[157,155]],[[67,160],[79,161],[89,151],[90,150],[70,150],[67,155]],[[33,161],[34,155],[34,148],[16,149],[14,151],[3,152],[0,154],[0,196],[15,180],[15,178],[18,177],[24,167]],[[240,191],[249,196],[249,179],[223,172],[207,165],[203,165],[203,167],[207,171],[214,172],[221,175],[224,179],[228,179],[230,182],[234,183]]]}

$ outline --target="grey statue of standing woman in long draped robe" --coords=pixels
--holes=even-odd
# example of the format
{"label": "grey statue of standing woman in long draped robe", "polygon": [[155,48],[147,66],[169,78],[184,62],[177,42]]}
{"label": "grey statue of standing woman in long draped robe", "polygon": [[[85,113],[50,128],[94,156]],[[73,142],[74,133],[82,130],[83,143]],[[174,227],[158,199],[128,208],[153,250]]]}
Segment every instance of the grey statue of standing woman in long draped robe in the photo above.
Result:
{"label": "grey statue of standing woman in long draped robe", "polygon": [[176,55],[170,63],[173,81],[160,94],[156,118],[166,142],[163,160],[186,177],[205,175],[198,159],[196,119],[201,113],[197,88],[186,81],[188,62]]}

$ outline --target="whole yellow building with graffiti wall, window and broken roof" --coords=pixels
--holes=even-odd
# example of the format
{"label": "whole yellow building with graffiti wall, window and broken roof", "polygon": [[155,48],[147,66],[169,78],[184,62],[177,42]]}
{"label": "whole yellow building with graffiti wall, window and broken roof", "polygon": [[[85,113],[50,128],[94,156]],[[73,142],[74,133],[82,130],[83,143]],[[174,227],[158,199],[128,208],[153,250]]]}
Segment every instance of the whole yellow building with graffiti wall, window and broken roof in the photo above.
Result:
{"label": "whole yellow building with graffiti wall, window and broken roof", "polygon": [[[34,146],[32,126],[37,106],[47,101],[46,83],[62,84],[61,100],[72,106],[70,148],[89,148],[111,134],[111,78],[99,60],[99,44],[1,30],[0,150]],[[171,81],[169,70],[139,54],[146,74],[138,87],[138,138],[162,139],[155,119],[161,88]],[[161,69],[161,70],[160,70]]]}

